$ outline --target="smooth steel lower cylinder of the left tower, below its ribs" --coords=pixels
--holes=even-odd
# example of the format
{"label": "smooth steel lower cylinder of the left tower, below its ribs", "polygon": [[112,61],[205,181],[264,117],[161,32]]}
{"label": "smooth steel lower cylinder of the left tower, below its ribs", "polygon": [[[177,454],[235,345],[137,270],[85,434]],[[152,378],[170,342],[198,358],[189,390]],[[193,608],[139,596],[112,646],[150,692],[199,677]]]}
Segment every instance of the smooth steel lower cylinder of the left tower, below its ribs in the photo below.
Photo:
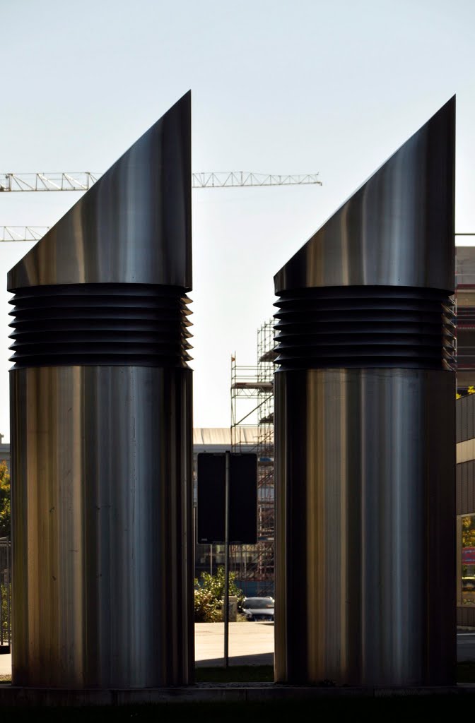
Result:
{"label": "smooth steel lower cylinder of the left tower, below its ribs", "polygon": [[193,682],[191,375],[11,372],[14,685]]}

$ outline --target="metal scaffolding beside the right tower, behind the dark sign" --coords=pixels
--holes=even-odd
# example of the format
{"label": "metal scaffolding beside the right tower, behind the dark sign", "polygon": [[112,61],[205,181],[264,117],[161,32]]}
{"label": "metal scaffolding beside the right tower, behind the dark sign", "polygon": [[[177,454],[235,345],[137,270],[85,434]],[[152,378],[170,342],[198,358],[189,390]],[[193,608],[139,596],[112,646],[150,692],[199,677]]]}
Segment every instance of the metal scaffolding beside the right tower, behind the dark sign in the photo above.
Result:
{"label": "metal scaffolding beside the right tower, behind the dark sign", "polygon": [[[231,567],[248,596],[274,594],[274,320],[257,333],[257,364],[239,367],[231,358],[231,449],[257,455],[257,544],[231,549]],[[257,427],[249,448],[245,429]]]}

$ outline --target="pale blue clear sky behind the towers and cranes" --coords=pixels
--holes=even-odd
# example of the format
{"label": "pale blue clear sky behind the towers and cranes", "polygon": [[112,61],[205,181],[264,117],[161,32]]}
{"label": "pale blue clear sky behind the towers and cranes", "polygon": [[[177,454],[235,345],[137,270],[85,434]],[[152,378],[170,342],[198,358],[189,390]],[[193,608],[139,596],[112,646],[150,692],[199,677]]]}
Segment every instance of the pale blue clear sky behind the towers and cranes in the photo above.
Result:
{"label": "pale blue clear sky behind the towers and cranes", "polygon": [[[471,0],[0,0],[0,31],[0,172],[105,171],[191,89],[193,171],[320,173],[193,191],[196,427],[229,426],[274,273],[454,93],[456,230],[475,231]],[[77,197],[2,194],[0,225],[52,226]],[[6,277],[31,245],[0,244],[6,440]]]}

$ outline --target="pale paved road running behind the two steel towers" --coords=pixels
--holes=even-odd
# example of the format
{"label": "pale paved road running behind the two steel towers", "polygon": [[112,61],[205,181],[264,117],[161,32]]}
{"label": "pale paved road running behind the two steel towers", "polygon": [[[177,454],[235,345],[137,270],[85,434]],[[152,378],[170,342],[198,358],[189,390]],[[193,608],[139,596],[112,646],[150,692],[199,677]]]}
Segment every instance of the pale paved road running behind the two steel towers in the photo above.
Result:
{"label": "pale paved road running behind the two steel towers", "polygon": [[[195,659],[197,667],[222,665],[223,623],[196,623]],[[230,665],[272,665],[274,625],[272,623],[230,623]],[[457,658],[475,660],[475,633],[458,633]],[[11,656],[0,654],[0,675],[12,670]]]}

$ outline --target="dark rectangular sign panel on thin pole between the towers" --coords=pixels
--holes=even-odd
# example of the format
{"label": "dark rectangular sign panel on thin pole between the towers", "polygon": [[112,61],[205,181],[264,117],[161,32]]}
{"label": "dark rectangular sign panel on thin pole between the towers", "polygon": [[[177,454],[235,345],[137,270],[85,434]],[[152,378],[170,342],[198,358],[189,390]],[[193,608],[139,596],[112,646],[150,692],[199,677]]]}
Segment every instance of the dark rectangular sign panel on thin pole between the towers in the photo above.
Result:
{"label": "dark rectangular sign panel on thin pole between the towers", "polygon": [[[224,544],[226,455],[198,454],[198,543]],[[257,455],[230,453],[230,544],[257,542]]]}

